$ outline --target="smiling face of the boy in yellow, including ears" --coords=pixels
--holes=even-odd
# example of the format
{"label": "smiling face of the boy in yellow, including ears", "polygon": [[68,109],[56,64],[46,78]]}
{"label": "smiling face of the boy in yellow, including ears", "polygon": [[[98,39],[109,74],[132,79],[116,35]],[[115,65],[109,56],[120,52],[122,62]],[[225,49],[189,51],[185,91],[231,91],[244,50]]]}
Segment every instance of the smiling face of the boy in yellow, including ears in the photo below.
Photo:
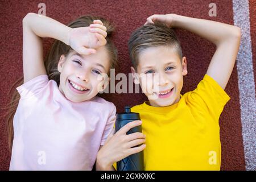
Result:
{"label": "smiling face of the boy in yellow, including ears", "polygon": [[[180,100],[187,61],[170,46],[150,47],[139,53],[137,72],[131,67],[135,84],[139,82],[150,105],[170,106]],[[136,74],[138,73],[138,74]]]}

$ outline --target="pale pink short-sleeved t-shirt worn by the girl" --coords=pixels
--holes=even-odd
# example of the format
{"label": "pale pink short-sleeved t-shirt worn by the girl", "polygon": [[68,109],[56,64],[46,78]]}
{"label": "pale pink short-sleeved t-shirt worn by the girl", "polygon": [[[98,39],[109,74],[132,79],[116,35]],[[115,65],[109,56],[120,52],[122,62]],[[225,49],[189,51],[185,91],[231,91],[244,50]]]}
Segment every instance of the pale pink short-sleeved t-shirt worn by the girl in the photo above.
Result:
{"label": "pale pink short-sleeved t-shirt worn by the girl", "polygon": [[114,104],[97,96],[69,101],[47,75],[16,89],[20,100],[10,170],[92,170],[113,129]]}

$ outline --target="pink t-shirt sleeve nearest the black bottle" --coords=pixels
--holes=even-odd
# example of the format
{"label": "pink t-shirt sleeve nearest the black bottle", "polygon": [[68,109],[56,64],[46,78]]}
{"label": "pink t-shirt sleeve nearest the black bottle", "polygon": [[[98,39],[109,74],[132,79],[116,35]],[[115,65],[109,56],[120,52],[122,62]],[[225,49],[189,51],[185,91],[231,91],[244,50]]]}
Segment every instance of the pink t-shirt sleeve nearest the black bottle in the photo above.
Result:
{"label": "pink t-shirt sleeve nearest the black bottle", "polygon": [[104,143],[106,142],[106,139],[108,138],[109,134],[111,133],[112,129],[114,128],[116,111],[117,111],[117,109],[115,108],[114,104],[112,104],[110,115],[109,115],[108,121],[106,122],[104,133],[102,135],[101,145],[104,145]]}

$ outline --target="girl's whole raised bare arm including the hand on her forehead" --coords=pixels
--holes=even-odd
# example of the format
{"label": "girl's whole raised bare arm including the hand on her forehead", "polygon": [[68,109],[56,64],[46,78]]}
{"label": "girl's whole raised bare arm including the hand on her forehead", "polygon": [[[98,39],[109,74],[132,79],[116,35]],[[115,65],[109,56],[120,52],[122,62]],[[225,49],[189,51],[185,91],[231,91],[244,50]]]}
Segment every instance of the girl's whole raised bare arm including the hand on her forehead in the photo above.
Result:
{"label": "girl's whole raised bare arm including the hand on her forehead", "polygon": [[95,53],[96,50],[92,48],[106,44],[106,27],[99,20],[94,22],[100,24],[98,28],[71,28],[47,16],[28,13],[22,23],[24,83],[36,76],[46,74],[41,38],[60,40],[85,55]]}

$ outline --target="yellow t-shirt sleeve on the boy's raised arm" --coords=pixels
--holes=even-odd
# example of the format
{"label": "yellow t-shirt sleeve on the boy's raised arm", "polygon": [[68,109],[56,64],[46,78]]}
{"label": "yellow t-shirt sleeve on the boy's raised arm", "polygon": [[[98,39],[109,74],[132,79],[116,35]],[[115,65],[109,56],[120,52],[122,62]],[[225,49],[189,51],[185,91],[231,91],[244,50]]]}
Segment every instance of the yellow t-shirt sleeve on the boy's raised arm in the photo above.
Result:
{"label": "yellow t-shirt sleeve on the boy's raised arm", "polygon": [[230,97],[217,81],[209,75],[205,75],[197,85],[197,88],[189,92],[187,99],[198,110],[203,109],[205,113],[209,113],[214,119],[219,119]]}

